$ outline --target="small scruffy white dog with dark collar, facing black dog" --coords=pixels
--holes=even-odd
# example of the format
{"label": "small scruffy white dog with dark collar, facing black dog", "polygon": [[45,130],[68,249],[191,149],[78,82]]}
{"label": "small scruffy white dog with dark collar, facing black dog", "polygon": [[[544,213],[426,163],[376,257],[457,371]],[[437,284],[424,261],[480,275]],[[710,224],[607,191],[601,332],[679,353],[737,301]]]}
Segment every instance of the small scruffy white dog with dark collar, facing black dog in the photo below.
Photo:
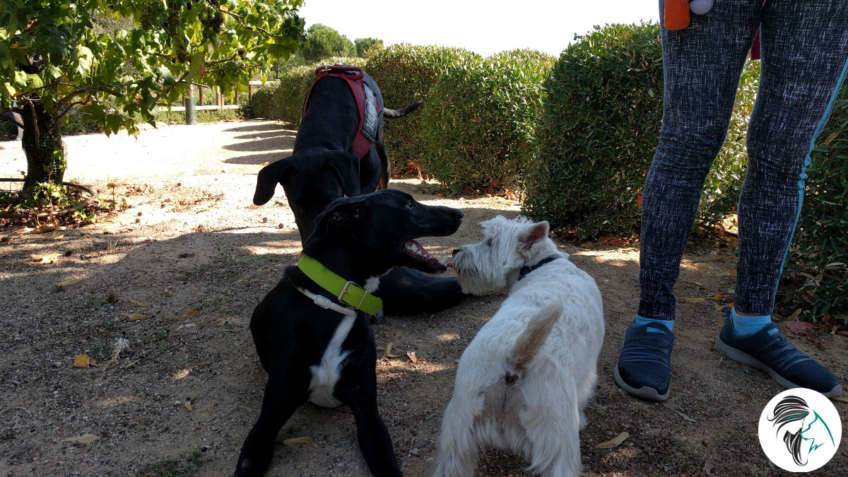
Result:
{"label": "small scruffy white dog with dark collar, facing black dog", "polygon": [[583,408],[604,339],[595,281],[548,238],[547,222],[498,216],[483,241],[454,251],[463,291],[509,296],[462,353],[442,419],[438,477],[474,475],[486,446],[544,476],[580,473]]}

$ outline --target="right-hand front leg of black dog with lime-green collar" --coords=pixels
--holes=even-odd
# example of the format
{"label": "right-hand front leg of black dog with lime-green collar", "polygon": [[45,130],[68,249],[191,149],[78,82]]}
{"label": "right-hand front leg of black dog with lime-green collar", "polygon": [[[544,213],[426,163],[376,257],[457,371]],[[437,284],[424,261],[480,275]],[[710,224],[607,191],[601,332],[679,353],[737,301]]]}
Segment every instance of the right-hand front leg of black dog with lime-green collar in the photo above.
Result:
{"label": "right-hand front leg of black dog with lime-green collar", "polygon": [[[398,477],[403,474],[395,458],[392,438],[377,409],[377,356],[373,338],[366,353],[370,356],[357,368],[345,369],[346,374],[336,385],[336,396],[350,406],[359,449],[371,473],[377,477]],[[351,357],[350,361],[355,358]]]}

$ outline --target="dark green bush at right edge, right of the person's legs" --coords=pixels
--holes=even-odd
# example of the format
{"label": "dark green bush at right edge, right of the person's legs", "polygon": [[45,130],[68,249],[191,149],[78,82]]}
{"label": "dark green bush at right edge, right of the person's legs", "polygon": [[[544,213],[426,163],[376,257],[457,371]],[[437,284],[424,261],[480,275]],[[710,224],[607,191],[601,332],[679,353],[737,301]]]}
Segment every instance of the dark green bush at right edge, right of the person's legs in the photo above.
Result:
{"label": "dark green bush at right edge, right of the person's legs", "polygon": [[812,154],[801,223],[781,301],[848,326],[848,85]]}

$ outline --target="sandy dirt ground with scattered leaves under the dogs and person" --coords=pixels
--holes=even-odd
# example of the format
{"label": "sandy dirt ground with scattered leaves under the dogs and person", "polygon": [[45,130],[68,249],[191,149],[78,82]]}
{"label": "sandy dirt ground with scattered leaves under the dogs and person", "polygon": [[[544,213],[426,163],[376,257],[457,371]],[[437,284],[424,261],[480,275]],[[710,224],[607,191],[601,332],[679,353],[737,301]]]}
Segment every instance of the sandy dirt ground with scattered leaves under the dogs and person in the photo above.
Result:
{"label": "sandy dirt ground with scattered leaves under the dogs and person", "polygon": [[[255,173],[285,155],[293,136],[279,123],[251,121],[162,127],[137,139],[67,138],[67,179],[126,197],[128,208],[76,230],[0,230],[0,475],[231,473],[265,380],[250,313],[300,248],[282,194],[251,205]],[[0,176],[24,168],[18,144],[1,142]],[[426,242],[440,257],[476,240],[478,221],[518,213],[504,199],[445,199],[418,181],[394,187],[465,210],[456,235]],[[780,388],[712,350],[734,282],[732,247],[705,244],[686,257],[672,398],[663,404],[626,397],[611,377],[637,302],[637,249],[563,248],[605,299],[600,386],[581,436],[585,473],[778,474],[756,428]],[[501,300],[474,298],[438,315],[375,325],[382,352],[392,345],[378,364],[380,409],[406,475],[431,471],[456,362]],[[848,340],[794,339],[845,381]],[[95,366],[73,366],[83,353]],[[848,416],[844,401],[836,405]],[[622,432],[629,437],[618,447],[597,447]],[[308,439],[284,443],[294,437]],[[845,475],[846,449],[819,474]],[[522,466],[489,452],[479,475],[524,475]],[[367,475],[351,414],[301,408],[280,433],[269,475]]]}

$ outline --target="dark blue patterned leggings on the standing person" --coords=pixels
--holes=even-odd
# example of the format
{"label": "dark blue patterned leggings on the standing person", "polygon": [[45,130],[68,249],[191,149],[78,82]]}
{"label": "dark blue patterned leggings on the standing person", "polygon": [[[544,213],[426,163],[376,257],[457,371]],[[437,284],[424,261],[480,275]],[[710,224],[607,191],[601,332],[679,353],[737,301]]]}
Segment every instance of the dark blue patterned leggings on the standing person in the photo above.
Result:
{"label": "dark blue patterned leggings on the standing person", "polygon": [[735,307],[756,315],[774,307],[810,152],[848,71],[848,1],[762,3],[716,0],[688,29],[663,30],[662,131],[643,192],[642,316],[674,318],[680,259],[758,24],[763,63],[739,198]]}

